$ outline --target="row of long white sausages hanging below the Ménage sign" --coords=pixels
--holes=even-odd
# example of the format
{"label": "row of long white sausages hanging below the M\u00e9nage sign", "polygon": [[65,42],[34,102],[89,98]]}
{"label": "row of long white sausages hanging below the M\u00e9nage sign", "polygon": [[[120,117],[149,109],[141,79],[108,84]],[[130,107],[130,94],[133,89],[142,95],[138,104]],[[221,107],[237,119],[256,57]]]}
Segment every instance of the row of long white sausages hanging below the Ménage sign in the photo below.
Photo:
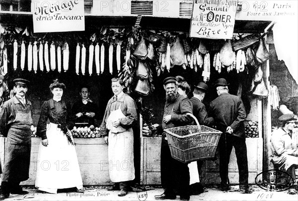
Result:
{"label": "row of long white sausages hanging below the M\u00e9nage sign", "polygon": [[[25,47],[24,41],[20,45],[21,54],[20,54],[20,68],[21,70],[25,69],[25,56],[27,51],[27,67],[28,71],[34,71],[35,73],[38,70],[44,71],[44,66],[47,72],[50,70],[57,70],[58,72],[62,72],[62,68],[64,72],[67,72],[69,69],[69,45],[67,42],[64,43],[63,47],[57,46],[54,42],[51,45],[46,41],[44,44],[40,42],[39,47],[37,47],[38,42],[35,41],[32,45],[29,42],[27,48]],[[50,47],[49,47],[50,46]],[[75,57],[75,73],[79,75],[79,69],[82,75],[85,75],[85,64],[86,64],[86,47],[84,44],[80,45],[77,43],[76,46],[76,57]],[[18,60],[18,43],[17,41],[13,42],[13,69],[16,70],[17,60]],[[117,59],[117,70],[118,72],[121,69],[121,46],[118,43],[116,46],[116,59]],[[89,50],[89,61],[88,61],[88,73],[92,75],[93,69],[93,59],[95,59],[96,73],[97,75],[104,71],[104,58],[105,58],[105,46],[97,43],[95,47],[91,44],[88,48]],[[50,52],[50,54],[49,54]],[[114,46],[113,44],[109,45],[109,72],[113,73],[113,52]],[[57,55],[57,56],[56,56]],[[130,57],[130,51],[126,51],[126,57]],[[57,61],[57,66],[56,66]],[[3,49],[3,74],[7,74],[7,49],[6,47]]]}

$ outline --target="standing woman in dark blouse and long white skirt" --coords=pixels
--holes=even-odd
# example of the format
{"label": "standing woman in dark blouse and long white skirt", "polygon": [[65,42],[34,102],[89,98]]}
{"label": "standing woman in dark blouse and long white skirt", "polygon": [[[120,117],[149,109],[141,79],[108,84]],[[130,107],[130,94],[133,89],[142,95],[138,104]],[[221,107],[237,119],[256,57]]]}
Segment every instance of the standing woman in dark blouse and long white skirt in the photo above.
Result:
{"label": "standing woman in dark blouse and long white skirt", "polygon": [[[68,109],[62,100],[63,83],[55,80],[50,85],[53,98],[45,101],[37,124],[37,135],[42,138],[38,151],[35,186],[40,190],[57,194],[57,189],[76,187],[83,193],[73,136],[68,129],[72,125]],[[50,124],[47,121],[50,120]]]}

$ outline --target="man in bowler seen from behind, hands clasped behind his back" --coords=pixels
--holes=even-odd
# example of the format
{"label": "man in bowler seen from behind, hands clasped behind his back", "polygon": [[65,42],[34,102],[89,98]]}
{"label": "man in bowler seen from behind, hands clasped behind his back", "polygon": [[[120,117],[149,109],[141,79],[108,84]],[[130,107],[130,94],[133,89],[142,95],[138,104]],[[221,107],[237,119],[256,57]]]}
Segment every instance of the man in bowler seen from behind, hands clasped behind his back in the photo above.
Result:
{"label": "man in bowler seen from behind, hands clasped behind his back", "polygon": [[224,78],[216,81],[218,98],[210,103],[210,115],[214,118],[220,137],[220,177],[222,191],[229,190],[228,163],[235,148],[239,170],[239,188],[244,193],[252,193],[248,187],[248,164],[243,121],[246,117],[240,97],[228,93],[228,84]]}

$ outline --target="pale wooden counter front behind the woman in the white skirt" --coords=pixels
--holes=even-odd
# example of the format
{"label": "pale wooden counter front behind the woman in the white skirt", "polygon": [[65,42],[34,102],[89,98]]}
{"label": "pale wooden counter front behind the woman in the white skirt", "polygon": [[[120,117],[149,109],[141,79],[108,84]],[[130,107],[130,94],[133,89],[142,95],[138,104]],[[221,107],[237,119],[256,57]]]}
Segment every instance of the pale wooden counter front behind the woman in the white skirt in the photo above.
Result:
{"label": "pale wooden counter front behind the woman in the white skirt", "polygon": [[[41,138],[32,137],[29,179],[21,185],[35,185],[38,149]],[[74,138],[83,185],[111,185],[108,170],[108,146],[103,138]],[[4,138],[0,138],[0,157],[3,164]]]}

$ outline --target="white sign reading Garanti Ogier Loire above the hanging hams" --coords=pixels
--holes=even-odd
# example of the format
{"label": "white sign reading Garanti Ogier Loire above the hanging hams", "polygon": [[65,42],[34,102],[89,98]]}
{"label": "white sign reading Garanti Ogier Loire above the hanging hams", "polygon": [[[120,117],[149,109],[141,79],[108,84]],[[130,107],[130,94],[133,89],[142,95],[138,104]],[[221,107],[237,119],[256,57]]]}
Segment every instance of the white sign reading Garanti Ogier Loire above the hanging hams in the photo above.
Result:
{"label": "white sign reading Garanti Ogier Loire above the hanging hams", "polygon": [[238,0],[194,0],[190,37],[231,39]]}

